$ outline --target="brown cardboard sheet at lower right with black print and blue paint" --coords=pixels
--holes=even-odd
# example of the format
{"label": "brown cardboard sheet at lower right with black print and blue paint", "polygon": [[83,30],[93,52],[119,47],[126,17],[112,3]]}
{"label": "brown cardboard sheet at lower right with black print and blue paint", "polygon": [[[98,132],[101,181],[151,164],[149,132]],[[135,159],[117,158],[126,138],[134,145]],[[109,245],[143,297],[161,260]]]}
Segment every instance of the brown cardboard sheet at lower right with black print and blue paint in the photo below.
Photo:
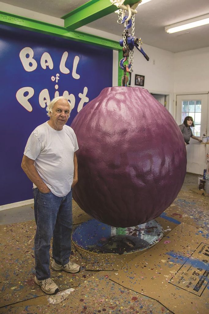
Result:
{"label": "brown cardboard sheet at lower right with black print and blue paint", "polygon": [[209,241],[184,223],[124,265],[114,282],[159,301],[175,314],[209,311]]}

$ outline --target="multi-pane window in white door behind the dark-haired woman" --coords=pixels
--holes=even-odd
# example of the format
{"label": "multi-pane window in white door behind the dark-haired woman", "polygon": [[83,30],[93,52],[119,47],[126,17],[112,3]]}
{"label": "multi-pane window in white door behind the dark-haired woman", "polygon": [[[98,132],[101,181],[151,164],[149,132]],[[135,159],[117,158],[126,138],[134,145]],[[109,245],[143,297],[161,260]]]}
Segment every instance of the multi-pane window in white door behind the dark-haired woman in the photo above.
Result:
{"label": "multi-pane window in white door behind the dark-haired woman", "polygon": [[201,130],[201,100],[183,100],[182,101],[182,123],[186,116],[191,116],[195,127],[192,127],[192,133],[200,136]]}

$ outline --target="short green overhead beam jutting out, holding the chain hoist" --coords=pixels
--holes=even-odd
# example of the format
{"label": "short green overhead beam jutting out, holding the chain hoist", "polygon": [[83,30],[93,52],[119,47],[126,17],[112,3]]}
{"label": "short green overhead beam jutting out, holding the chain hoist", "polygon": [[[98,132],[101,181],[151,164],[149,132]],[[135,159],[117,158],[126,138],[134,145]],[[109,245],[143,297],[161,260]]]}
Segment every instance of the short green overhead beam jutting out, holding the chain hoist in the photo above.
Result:
{"label": "short green overhead beam jutting out, holding the chain hoist", "polygon": [[[124,5],[133,5],[139,0],[126,0]],[[117,7],[111,4],[110,0],[90,0],[70,13],[64,15],[65,27],[75,30],[78,27],[91,23],[103,16],[113,13]],[[115,21],[117,18],[115,19]]]}

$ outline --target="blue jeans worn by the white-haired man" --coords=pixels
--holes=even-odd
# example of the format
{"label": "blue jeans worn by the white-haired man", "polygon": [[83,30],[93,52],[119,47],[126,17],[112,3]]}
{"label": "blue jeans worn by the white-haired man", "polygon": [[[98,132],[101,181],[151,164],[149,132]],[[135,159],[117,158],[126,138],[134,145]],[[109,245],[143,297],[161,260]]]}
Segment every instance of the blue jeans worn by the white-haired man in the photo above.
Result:
{"label": "blue jeans worn by the white-haired man", "polygon": [[50,278],[50,240],[55,263],[65,265],[71,255],[72,189],[63,197],[34,189],[34,214],[37,225],[34,240],[36,278]]}

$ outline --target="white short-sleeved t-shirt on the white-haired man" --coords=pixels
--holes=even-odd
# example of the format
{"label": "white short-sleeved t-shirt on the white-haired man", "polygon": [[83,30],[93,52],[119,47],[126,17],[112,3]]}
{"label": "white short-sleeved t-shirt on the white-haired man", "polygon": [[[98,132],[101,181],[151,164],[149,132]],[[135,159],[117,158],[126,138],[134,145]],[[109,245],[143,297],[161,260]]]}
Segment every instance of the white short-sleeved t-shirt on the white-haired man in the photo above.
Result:
{"label": "white short-sleeved t-shirt on the white-haired man", "polygon": [[53,194],[62,197],[71,190],[76,150],[78,142],[71,127],[64,125],[61,131],[56,131],[44,122],[31,133],[24,155],[35,160],[41,179]]}

